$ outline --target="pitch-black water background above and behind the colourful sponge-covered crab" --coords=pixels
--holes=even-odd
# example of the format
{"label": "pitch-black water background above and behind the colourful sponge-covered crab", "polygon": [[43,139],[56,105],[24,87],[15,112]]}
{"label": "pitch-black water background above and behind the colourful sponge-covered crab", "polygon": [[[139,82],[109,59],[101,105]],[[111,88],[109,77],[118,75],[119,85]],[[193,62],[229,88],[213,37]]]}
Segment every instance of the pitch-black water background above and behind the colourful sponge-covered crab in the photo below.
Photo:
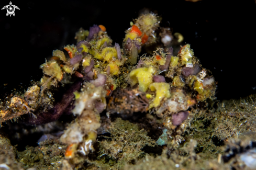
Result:
{"label": "pitch-black water background above and behind the colourful sponge-covered crab", "polygon": [[[9,4],[1,1],[0,8]],[[143,8],[157,12],[161,26],[180,32],[203,67],[218,82],[217,98],[254,94],[256,89],[256,5],[254,1],[12,1],[20,10],[0,10],[0,95],[39,81],[39,65],[52,50],[72,44],[80,27],[107,28],[121,43],[125,29]],[[22,84],[21,84],[22,83]],[[4,85],[7,84],[7,85]]]}

